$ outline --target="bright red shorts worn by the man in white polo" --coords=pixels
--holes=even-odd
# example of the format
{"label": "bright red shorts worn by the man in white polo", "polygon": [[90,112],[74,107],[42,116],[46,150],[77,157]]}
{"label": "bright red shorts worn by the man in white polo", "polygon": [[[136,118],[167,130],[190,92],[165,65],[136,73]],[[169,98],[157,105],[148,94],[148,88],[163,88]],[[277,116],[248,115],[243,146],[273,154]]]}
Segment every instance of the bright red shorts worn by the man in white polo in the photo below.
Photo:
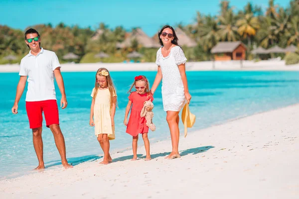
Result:
{"label": "bright red shorts worn by the man in white polo", "polygon": [[42,111],[44,112],[48,128],[51,124],[59,124],[56,100],[26,101],[26,111],[30,128],[39,128],[42,126]]}

